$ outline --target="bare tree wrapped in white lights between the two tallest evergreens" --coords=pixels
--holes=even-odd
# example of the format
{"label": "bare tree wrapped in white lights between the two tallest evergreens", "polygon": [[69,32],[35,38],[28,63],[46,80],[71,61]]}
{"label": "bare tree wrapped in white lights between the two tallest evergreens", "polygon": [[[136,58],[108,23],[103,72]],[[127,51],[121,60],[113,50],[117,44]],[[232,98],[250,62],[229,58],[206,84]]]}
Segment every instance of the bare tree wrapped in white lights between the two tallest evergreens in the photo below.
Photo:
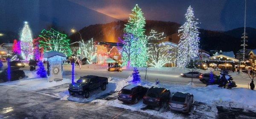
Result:
{"label": "bare tree wrapped in white lights between the two tallest evergreens", "polygon": [[160,68],[166,63],[175,62],[175,51],[170,45],[159,43],[165,38],[164,33],[151,30],[148,39],[148,65]]}

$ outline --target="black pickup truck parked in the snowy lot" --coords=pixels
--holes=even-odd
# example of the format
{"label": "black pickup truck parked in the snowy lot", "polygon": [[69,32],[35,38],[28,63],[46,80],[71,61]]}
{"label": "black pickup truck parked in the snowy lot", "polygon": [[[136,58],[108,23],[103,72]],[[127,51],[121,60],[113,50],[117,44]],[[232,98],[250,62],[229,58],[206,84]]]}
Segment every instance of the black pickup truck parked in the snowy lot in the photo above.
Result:
{"label": "black pickup truck parked in the snowy lot", "polygon": [[102,91],[106,90],[108,84],[108,78],[98,77],[93,75],[87,75],[78,79],[75,83],[69,85],[69,94],[81,95],[84,98],[89,97],[89,92],[101,88]]}

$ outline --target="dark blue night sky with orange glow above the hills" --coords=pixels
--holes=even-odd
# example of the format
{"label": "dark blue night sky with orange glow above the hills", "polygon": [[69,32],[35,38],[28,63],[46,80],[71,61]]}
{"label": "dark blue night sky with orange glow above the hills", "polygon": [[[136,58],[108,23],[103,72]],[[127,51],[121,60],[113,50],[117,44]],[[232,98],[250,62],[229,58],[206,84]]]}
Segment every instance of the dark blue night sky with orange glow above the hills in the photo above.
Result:
{"label": "dark blue night sky with orange glow above the hills", "polygon": [[[28,21],[34,35],[52,24],[70,34],[71,28],[127,19],[135,4],[147,20],[183,24],[191,5],[200,28],[227,31],[244,24],[244,0],[0,0],[0,31],[19,33]],[[247,0],[247,27],[256,28],[255,5]]]}

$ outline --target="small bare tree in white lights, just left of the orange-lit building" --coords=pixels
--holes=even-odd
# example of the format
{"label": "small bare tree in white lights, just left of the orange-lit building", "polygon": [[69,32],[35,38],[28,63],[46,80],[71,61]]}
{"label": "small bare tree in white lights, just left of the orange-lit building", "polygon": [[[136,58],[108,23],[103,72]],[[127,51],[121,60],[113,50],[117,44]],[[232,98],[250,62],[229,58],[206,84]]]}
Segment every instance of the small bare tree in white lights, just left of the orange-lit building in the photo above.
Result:
{"label": "small bare tree in white lights, just left of the orange-lit building", "polygon": [[96,54],[95,54],[96,46],[95,46],[95,42],[93,42],[93,38],[91,38],[87,42],[84,42],[84,40],[82,40],[80,44],[81,44],[79,47],[80,57],[82,56],[86,57],[88,59],[87,62],[91,64],[92,62],[90,62],[90,60],[96,57]]}

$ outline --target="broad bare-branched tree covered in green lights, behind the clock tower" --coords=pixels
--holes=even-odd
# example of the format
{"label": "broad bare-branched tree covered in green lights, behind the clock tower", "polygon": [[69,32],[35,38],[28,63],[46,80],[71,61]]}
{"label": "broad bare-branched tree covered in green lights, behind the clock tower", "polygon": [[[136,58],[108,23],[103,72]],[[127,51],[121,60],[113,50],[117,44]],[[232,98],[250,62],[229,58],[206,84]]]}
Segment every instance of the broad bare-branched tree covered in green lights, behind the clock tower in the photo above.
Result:
{"label": "broad bare-branched tree covered in green lights, behind the clock tower", "polygon": [[45,51],[59,51],[64,53],[66,56],[70,56],[72,54],[70,49],[70,40],[68,39],[66,34],[61,34],[54,29],[43,30],[39,37],[42,40],[39,40],[39,47],[44,48]]}

